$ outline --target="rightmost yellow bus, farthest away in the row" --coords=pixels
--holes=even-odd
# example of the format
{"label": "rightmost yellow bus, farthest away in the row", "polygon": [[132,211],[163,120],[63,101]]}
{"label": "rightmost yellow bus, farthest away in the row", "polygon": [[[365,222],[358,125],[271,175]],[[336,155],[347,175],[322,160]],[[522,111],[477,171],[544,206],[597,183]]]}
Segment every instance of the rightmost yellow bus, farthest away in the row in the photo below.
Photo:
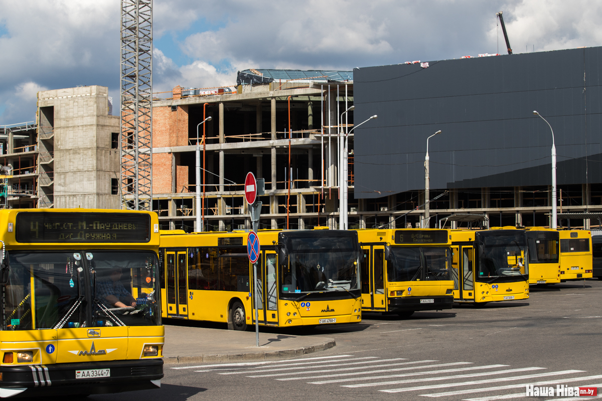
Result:
{"label": "rightmost yellow bus, farthest away in the row", "polygon": [[559,230],[560,281],[593,277],[592,233],[588,230]]}

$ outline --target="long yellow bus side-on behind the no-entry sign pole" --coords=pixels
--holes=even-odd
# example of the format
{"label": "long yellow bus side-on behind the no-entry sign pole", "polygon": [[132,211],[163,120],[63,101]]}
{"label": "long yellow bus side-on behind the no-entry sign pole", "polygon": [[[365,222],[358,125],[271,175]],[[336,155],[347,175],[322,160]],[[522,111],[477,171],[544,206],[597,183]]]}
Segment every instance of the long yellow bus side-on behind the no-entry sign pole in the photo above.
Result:
{"label": "long yellow bus side-on behind the no-entry sign pole", "polygon": [[[245,231],[161,231],[163,317],[255,324]],[[355,231],[259,230],[258,323],[314,326],[361,321]]]}

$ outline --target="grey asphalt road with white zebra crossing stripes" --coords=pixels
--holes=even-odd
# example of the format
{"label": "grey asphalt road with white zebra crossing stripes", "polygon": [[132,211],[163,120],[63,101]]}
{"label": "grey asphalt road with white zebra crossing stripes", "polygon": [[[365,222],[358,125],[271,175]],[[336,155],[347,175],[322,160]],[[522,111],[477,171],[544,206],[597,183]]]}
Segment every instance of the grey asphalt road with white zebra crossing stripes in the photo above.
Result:
{"label": "grey asphalt road with white zebra crossing stripes", "polygon": [[532,287],[526,302],[459,305],[409,319],[364,314],[358,325],[307,332],[335,338],[337,346],[323,352],[261,364],[166,366],[160,390],[90,399],[486,401],[518,398],[538,382],[602,390],[601,304],[602,281],[588,280],[585,287]]}

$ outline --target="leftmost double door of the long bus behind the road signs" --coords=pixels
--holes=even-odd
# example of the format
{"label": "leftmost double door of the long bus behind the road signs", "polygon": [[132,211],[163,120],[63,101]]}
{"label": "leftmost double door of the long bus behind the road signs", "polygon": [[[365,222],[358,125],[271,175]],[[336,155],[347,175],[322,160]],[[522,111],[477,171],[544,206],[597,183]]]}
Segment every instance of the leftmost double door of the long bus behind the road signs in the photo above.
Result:
{"label": "leftmost double door of the long bus behind the road signs", "polygon": [[186,251],[166,251],[167,315],[188,316]]}

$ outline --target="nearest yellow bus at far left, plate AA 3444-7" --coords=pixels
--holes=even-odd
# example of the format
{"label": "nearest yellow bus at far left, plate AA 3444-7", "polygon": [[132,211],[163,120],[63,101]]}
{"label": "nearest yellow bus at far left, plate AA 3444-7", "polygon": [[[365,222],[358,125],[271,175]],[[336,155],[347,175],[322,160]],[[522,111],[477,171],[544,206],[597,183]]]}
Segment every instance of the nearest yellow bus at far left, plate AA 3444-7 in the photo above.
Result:
{"label": "nearest yellow bus at far left, plate AA 3444-7", "polygon": [[0,210],[0,397],[159,388],[157,213]]}

